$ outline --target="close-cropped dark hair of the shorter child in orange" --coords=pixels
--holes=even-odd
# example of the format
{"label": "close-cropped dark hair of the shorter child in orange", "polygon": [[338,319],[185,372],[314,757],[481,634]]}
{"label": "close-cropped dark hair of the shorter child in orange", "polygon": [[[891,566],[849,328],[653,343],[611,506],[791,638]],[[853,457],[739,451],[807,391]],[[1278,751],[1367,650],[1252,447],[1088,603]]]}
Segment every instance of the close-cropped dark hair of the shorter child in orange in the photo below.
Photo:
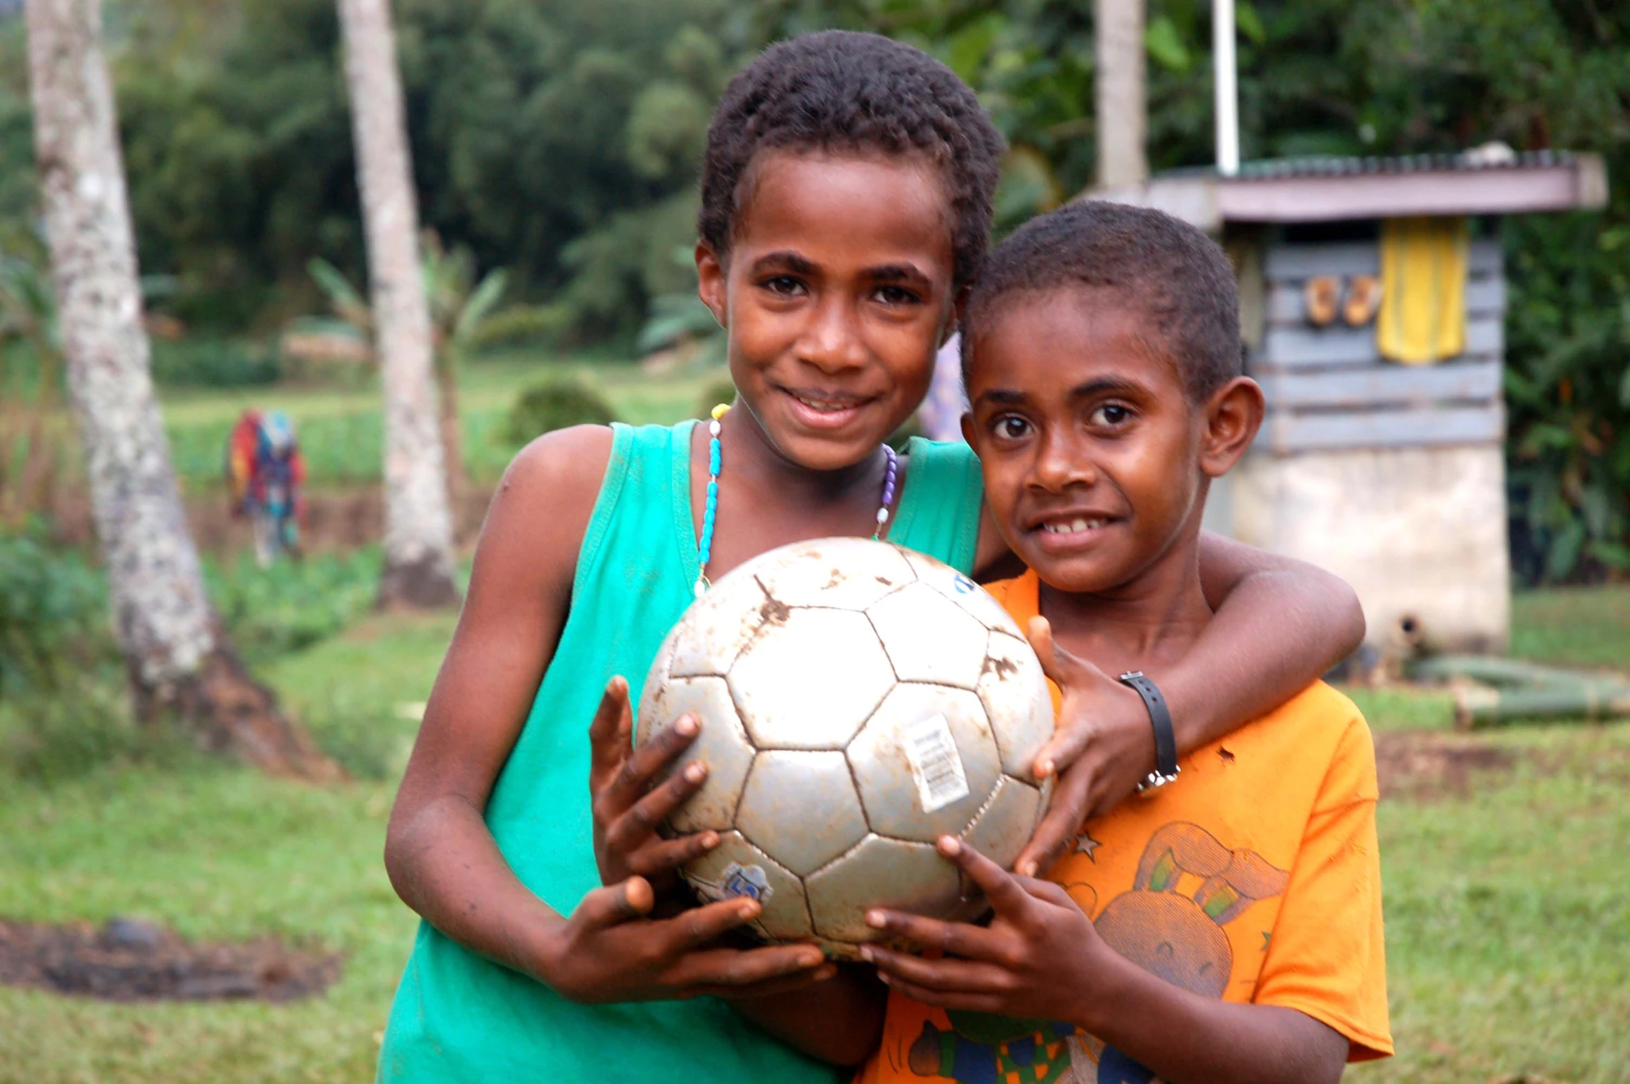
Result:
{"label": "close-cropped dark hair of the shorter child in orange", "polygon": [[1239,285],[1222,248],[1159,210],[1089,199],[1032,218],[985,261],[962,318],[963,383],[975,342],[1007,305],[1071,287],[1120,290],[1138,306],[1193,403],[1244,372]]}

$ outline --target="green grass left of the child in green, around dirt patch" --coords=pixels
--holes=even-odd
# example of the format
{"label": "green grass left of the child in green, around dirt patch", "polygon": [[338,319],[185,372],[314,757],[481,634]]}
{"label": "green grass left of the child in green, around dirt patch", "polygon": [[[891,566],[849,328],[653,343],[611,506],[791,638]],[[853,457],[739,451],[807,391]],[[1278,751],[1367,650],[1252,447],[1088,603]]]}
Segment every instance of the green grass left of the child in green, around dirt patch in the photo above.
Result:
{"label": "green grass left of the child in green, around dirt patch", "polygon": [[[319,740],[372,730],[394,774],[414,727],[396,707],[429,694],[450,634],[450,618],[375,618],[267,673]],[[187,937],[275,934],[346,954],[326,996],[284,1006],[0,986],[0,1082],[372,1079],[414,929],[380,862],[393,782],[319,789],[187,758],[0,786],[0,914],[137,914]]]}

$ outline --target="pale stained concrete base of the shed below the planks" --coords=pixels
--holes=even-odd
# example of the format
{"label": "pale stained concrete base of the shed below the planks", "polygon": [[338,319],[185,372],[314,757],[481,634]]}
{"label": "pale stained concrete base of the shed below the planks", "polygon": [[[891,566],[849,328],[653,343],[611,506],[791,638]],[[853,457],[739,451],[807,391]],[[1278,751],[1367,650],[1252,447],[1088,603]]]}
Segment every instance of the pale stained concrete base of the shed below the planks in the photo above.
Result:
{"label": "pale stained concrete base of the shed below the planks", "polygon": [[1213,487],[1206,528],[1343,577],[1376,647],[1413,618],[1433,647],[1506,649],[1511,562],[1498,445],[1252,452]]}

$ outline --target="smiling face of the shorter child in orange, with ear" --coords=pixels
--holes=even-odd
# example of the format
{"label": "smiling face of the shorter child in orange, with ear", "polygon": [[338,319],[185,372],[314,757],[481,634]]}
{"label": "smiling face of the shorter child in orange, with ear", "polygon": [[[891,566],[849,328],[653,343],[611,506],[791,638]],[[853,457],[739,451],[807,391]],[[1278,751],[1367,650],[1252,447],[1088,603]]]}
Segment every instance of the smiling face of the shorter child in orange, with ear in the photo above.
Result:
{"label": "smiling face of the shorter child in orange, with ear", "polygon": [[963,432],[986,500],[1014,553],[1064,592],[1113,592],[1192,544],[1206,478],[1262,419],[1244,378],[1195,404],[1123,290],[1007,298],[970,346]]}

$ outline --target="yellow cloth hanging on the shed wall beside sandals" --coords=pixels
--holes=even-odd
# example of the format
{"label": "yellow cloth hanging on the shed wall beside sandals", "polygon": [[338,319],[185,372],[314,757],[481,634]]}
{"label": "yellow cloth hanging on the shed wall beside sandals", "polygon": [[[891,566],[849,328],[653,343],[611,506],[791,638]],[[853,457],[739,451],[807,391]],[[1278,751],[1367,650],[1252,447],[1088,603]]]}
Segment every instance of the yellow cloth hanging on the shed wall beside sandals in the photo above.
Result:
{"label": "yellow cloth hanging on the shed wall beside sandals", "polygon": [[1405,365],[1431,365],[1465,350],[1465,218],[1387,218],[1381,223],[1381,311],[1376,347]]}

